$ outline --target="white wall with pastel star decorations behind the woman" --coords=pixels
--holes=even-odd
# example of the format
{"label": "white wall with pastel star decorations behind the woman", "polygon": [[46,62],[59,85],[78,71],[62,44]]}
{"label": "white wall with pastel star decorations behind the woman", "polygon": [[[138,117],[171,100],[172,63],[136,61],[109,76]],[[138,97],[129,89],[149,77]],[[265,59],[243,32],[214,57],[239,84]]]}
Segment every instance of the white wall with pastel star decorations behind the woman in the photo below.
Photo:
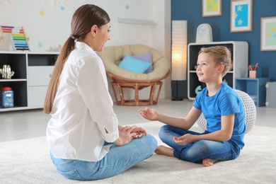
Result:
{"label": "white wall with pastel star decorations behind the woman", "polygon": [[[1,0],[0,25],[23,26],[29,40],[31,52],[47,52],[63,45],[70,34],[71,16],[82,4],[96,4],[108,12],[111,19],[110,38],[105,46],[143,44],[159,50],[171,61],[171,1],[169,0]],[[61,10],[64,6],[64,11]],[[127,6],[129,8],[127,8]],[[1,7],[1,6],[0,6]],[[40,15],[44,12],[44,15]],[[151,20],[157,25],[118,23],[117,18]],[[171,97],[171,80],[163,85],[160,98]],[[148,96],[142,91],[141,96]],[[110,94],[113,91],[110,88]],[[130,94],[131,96],[131,94]]]}

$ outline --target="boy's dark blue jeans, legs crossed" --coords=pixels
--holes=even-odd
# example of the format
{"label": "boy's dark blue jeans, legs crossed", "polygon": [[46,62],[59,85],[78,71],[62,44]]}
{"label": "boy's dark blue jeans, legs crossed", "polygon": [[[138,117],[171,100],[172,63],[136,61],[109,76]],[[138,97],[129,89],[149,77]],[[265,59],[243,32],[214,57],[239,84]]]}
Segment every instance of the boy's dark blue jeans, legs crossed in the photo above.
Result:
{"label": "boy's dark blue jeans, legs crossed", "polygon": [[234,142],[215,142],[208,140],[200,140],[182,146],[176,144],[173,141],[173,137],[180,137],[184,134],[207,134],[208,132],[198,133],[190,130],[183,130],[178,127],[172,127],[169,125],[164,125],[161,127],[159,132],[159,137],[162,142],[166,143],[168,146],[173,148],[173,155],[183,161],[190,161],[193,163],[200,163],[202,159],[213,159],[219,161],[227,161],[236,159],[240,154],[240,149]]}

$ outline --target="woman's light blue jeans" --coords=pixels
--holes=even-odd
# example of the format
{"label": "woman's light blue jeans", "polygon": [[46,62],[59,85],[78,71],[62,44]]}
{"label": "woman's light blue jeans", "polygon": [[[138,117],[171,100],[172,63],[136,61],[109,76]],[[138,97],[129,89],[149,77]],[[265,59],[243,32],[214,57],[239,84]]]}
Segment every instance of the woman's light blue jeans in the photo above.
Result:
{"label": "woman's light blue jeans", "polygon": [[148,134],[125,146],[113,144],[100,161],[56,159],[50,153],[57,171],[71,180],[99,180],[115,176],[154,154],[157,142]]}

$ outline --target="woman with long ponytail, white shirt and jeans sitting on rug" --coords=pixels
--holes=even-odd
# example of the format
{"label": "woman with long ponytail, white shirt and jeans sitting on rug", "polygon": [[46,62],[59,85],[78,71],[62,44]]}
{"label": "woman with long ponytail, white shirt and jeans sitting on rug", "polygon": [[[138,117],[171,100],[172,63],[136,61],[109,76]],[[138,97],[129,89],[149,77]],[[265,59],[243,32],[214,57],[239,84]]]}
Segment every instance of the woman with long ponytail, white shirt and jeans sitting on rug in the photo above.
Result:
{"label": "woman with long ponytail, white shirt and jeans sitting on rug", "polygon": [[54,166],[73,180],[98,180],[148,159],[157,142],[140,127],[118,125],[105,68],[96,52],[110,40],[110,18],[86,4],[71,20],[45,99],[47,140]]}

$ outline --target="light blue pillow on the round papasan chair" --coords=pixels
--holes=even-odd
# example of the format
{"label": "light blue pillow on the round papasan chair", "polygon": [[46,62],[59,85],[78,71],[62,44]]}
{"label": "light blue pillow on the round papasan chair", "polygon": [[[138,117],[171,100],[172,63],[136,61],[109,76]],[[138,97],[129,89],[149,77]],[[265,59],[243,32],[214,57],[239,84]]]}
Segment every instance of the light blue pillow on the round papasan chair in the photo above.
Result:
{"label": "light blue pillow on the round papasan chair", "polygon": [[122,62],[120,62],[118,67],[121,69],[132,71],[136,74],[143,74],[150,66],[150,62],[144,62],[140,59],[135,59],[130,55],[125,55],[124,59],[122,59]]}

